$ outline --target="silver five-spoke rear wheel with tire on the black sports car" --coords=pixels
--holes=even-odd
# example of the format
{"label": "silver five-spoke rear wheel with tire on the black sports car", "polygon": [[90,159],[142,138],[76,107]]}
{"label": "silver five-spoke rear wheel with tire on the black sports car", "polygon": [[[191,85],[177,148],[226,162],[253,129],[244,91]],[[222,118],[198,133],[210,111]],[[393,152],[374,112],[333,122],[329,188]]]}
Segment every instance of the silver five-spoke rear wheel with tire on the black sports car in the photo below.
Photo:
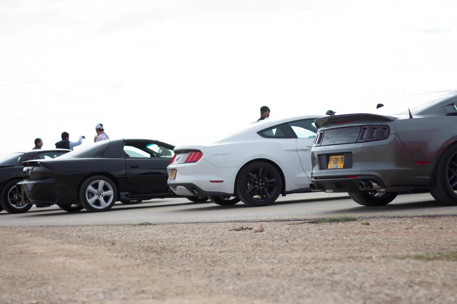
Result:
{"label": "silver five-spoke rear wheel with tire on the black sports car", "polygon": [[86,179],[79,192],[81,205],[91,212],[107,211],[114,206],[117,199],[116,185],[103,175]]}

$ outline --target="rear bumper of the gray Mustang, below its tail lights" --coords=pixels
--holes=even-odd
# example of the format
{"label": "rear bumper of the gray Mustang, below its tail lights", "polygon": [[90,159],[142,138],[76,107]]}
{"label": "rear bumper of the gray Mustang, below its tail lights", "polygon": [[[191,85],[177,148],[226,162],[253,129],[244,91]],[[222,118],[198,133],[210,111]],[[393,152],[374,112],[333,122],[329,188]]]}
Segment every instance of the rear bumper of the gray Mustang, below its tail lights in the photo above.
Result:
{"label": "rear bumper of the gray Mustang, below its tail lights", "polygon": [[[319,156],[350,152],[352,166],[327,169],[319,166]],[[318,189],[360,191],[360,180],[374,180],[387,191],[428,188],[436,164],[435,158],[412,157],[395,134],[388,139],[368,143],[313,147],[311,181]],[[430,161],[417,165],[415,161]],[[354,177],[352,177],[354,176]]]}

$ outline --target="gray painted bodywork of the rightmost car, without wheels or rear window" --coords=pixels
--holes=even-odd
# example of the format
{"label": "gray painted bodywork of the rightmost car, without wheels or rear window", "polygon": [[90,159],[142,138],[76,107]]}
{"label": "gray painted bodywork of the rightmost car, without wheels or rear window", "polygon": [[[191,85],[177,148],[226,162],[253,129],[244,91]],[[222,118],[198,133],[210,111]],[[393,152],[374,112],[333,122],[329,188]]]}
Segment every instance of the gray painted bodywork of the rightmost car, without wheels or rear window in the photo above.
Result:
{"label": "gray painted bodywork of the rightmost car, without wheels or rear window", "polygon": [[[385,125],[386,139],[359,142],[362,125]],[[457,91],[416,113],[413,118],[369,113],[329,116],[316,119],[323,131],[321,144],[311,150],[311,180],[327,192],[364,192],[358,182],[374,180],[386,192],[428,188],[442,152],[457,142]],[[352,165],[327,169],[323,155],[350,155]],[[345,156],[346,156],[345,155]],[[319,160],[321,163],[319,165]],[[416,164],[429,162],[428,164]]]}

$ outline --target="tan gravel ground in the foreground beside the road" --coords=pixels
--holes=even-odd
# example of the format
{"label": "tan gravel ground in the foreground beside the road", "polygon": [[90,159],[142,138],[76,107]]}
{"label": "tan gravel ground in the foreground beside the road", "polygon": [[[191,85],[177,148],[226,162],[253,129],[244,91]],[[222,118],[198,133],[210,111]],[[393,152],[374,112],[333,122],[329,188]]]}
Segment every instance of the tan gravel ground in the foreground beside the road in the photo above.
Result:
{"label": "tan gravel ground in the foreground beside the road", "polygon": [[456,219],[0,228],[0,303],[455,303]]}

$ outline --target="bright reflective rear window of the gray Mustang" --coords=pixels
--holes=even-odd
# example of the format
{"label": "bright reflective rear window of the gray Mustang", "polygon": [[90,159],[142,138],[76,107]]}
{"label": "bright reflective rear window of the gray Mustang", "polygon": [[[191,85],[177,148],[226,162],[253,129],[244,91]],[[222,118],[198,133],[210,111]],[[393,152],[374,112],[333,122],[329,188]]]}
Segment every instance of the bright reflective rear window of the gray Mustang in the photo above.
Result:
{"label": "bright reflective rear window of the gray Mustang", "polygon": [[[457,91],[442,91],[442,92],[431,92],[424,93],[419,95],[414,95],[408,98],[408,103],[403,101],[403,103],[396,103],[382,108],[376,109],[374,114],[380,115],[390,115],[390,116],[409,116],[408,107],[411,111],[411,114],[417,115],[423,110],[430,108],[436,103],[439,103],[447,98],[457,95]],[[404,107],[399,106],[399,104],[404,104]]]}

